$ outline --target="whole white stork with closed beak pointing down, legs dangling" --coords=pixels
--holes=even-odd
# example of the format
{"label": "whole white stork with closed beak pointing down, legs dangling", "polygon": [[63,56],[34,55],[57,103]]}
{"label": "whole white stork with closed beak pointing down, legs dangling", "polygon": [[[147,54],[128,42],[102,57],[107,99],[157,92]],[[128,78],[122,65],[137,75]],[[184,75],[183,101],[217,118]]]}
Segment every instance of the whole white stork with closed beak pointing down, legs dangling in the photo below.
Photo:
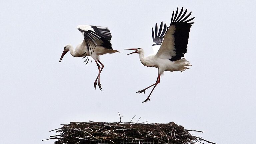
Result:
{"label": "whole white stork with closed beak pointing down, legs dangling", "polygon": [[[89,56],[91,56],[99,69],[98,76],[94,82],[94,88],[96,89],[97,85],[97,79],[98,79],[98,86],[101,90],[101,84],[100,84],[100,73],[104,67],[104,65],[99,60],[99,55],[103,55],[106,53],[115,53],[119,52],[117,50],[113,50],[110,40],[111,40],[111,34],[110,31],[106,27],[99,27],[99,26],[89,26],[89,25],[79,25],[76,27],[84,36],[83,42],[78,44],[76,48],[71,44],[67,44],[64,47],[64,51],[60,57],[60,61],[62,60],[63,56],[70,51],[70,54],[74,57],[86,57],[85,64],[89,61]],[[98,62],[101,64],[98,64]]]}

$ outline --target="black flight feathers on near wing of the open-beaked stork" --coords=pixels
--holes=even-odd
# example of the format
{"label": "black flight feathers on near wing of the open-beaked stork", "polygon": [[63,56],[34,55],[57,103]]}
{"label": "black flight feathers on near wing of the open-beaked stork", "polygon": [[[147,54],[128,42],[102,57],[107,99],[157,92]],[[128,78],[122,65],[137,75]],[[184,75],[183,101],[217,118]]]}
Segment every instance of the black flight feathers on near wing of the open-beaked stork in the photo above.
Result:
{"label": "black flight feathers on near wing of the open-beaked stork", "polygon": [[[175,26],[175,32],[173,34],[174,36],[174,43],[175,43],[175,52],[176,55],[173,56],[170,60],[176,61],[184,57],[184,54],[187,52],[187,45],[188,45],[188,37],[189,37],[189,31],[193,23],[188,23],[191,20],[193,20],[195,17],[187,20],[189,16],[191,15],[191,12],[184,18],[185,14],[187,13],[187,9],[185,10],[184,14],[180,17],[182,13],[183,8],[181,9],[181,12],[179,16],[176,18],[178,14],[178,8],[176,11],[176,14],[174,16],[174,11],[172,13],[172,20],[170,26]],[[174,16],[174,18],[173,18]]]}

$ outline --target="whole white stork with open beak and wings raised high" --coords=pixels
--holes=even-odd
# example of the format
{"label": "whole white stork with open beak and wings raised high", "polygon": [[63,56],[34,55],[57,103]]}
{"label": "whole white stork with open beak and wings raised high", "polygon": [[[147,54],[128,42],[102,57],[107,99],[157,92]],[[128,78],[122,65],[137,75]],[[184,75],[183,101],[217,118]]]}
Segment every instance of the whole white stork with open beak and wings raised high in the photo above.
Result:
{"label": "whole white stork with open beak and wings raised high", "polygon": [[163,22],[160,25],[159,31],[157,24],[155,26],[155,33],[152,28],[152,48],[154,51],[153,54],[144,57],[144,50],[142,48],[129,48],[129,50],[135,50],[132,53],[139,53],[140,61],[144,66],[158,68],[156,83],[137,92],[145,93],[145,90],[154,86],[147,99],[142,103],[146,103],[148,100],[150,101],[149,97],[157,84],[160,83],[160,76],[163,74],[164,71],[183,72],[188,69],[186,66],[191,66],[189,61],[182,57],[184,57],[184,54],[187,52],[189,37],[188,35],[190,27],[193,24],[193,22],[190,21],[193,20],[195,17],[188,19],[191,15],[191,12],[187,16],[185,16],[187,13],[187,9],[184,11],[184,13],[182,13],[183,8],[181,8],[179,15],[178,11],[179,8],[177,8],[175,15],[173,11],[171,24],[168,28],[166,24],[164,24],[163,28]]}

